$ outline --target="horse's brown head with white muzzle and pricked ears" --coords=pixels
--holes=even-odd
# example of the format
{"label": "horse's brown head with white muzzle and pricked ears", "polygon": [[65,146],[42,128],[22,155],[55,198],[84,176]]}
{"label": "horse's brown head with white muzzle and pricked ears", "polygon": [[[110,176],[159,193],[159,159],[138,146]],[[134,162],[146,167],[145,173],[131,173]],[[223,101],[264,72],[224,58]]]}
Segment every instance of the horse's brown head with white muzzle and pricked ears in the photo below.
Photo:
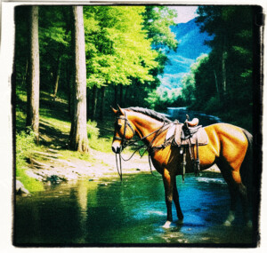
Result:
{"label": "horse's brown head with white muzzle and pricked ears", "polygon": [[112,151],[119,154],[125,147],[125,141],[134,137],[134,124],[127,118],[126,112],[122,108],[118,107],[118,110],[112,108],[112,110],[116,115]]}

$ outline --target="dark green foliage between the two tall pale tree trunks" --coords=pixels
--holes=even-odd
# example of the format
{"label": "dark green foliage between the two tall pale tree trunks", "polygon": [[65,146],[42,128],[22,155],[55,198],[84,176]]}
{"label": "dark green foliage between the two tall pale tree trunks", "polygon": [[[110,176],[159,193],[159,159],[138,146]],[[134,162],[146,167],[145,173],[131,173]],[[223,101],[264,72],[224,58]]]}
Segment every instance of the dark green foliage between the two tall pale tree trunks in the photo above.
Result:
{"label": "dark green foliage between the two tall pale tree trunks", "polygon": [[41,88],[55,98],[57,91],[68,93],[71,62],[69,6],[39,7]]}

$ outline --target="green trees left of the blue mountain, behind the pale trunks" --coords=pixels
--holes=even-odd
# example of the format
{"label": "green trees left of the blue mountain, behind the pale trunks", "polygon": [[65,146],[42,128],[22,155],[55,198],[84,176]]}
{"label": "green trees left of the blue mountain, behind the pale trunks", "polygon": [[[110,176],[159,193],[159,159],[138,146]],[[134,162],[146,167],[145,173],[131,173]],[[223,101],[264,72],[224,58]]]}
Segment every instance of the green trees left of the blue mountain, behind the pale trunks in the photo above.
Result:
{"label": "green trees left of the blue mountain, behind the pale trunks", "polygon": [[[16,84],[26,91],[28,6],[16,8],[15,15]],[[106,87],[101,108],[122,104],[120,98],[125,107],[149,106],[144,99],[160,84],[157,76],[166,65],[166,48],[177,47],[170,29],[174,17],[166,6],[85,6],[88,116],[93,115],[94,107],[100,115],[95,104],[102,99],[93,97],[93,87]],[[72,18],[70,6],[39,6],[40,88],[53,93],[59,77],[57,94],[69,99],[69,112],[74,82]]]}

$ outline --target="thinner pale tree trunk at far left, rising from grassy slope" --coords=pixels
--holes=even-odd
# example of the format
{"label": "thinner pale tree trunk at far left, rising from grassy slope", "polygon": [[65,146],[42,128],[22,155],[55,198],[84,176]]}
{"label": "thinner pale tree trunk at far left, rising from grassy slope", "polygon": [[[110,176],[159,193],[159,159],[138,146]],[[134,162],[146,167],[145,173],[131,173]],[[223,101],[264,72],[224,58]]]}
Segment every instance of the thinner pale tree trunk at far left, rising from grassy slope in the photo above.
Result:
{"label": "thinner pale tree trunk at far left, rising from grassy slope", "polygon": [[36,134],[39,140],[39,97],[40,97],[40,73],[39,73],[39,41],[38,41],[38,6],[30,8],[29,28],[29,82],[28,82],[28,112],[27,126]]}

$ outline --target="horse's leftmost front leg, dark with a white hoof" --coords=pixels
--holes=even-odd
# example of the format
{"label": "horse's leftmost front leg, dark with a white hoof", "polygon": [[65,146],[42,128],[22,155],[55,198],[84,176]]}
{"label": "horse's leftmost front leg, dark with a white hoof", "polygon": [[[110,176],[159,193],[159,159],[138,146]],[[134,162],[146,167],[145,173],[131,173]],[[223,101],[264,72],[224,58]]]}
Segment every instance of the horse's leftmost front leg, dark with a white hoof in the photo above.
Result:
{"label": "horse's leftmost front leg, dark with a white hoof", "polygon": [[172,202],[173,202],[173,194],[174,194],[174,179],[175,176],[171,175],[169,170],[163,170],[163,182],[165,188],[165,200],[166,200],[166,209],[167,209],[167,218],[166,224],[163,227],[170,227],[173,221],[173,214],[172,214]]}

